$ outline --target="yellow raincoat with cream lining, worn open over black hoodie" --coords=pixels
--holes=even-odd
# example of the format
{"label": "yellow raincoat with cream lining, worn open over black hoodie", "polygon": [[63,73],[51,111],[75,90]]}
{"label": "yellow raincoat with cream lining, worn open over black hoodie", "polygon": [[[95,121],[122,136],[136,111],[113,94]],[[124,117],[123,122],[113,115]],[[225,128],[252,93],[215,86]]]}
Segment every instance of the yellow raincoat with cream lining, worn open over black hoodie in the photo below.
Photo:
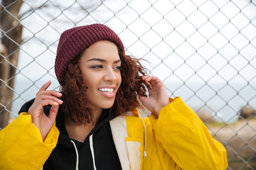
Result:
{"label": "yellow raincoat with cream lining, worn open over black hoodie", "polygon": [[[110,121],[122,169],[226,170],[227,153],[222,144],[211,137],[182,99],[175,97],[170,102],[158,118],[151,114],[142,121],[134,110]],[[0,130],[0,170],[40,170],[58,135],[54,124],[43,142],[31,116],[21,113]]]}

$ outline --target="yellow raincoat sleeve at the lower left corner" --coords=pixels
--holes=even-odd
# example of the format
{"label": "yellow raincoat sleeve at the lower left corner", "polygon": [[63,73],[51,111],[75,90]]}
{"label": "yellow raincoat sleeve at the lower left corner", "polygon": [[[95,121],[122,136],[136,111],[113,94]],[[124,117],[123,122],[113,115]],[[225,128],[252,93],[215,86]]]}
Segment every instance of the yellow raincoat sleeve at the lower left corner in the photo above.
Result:
{"label": "yellow raincoat sleeve at the lower left corner", "polygon": [[0,130],[1,170],[40,170],[56,147],[59,131],[54,125],[43,142],[31,115],[20,113]]}

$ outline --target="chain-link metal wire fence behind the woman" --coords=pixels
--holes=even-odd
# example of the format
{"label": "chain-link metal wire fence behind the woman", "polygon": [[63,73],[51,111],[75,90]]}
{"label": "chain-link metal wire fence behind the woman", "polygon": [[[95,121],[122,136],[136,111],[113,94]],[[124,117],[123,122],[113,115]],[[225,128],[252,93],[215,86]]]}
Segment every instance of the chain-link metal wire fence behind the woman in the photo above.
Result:
{"label": "chain-link metal wire fence behind the woman", "polygon": [[[1,7],[0,14],[16,21],[9,30],[1,24],[1,42],[18,45],[12,53],[19,50],[19,60],[16,66],[8,60],[12,53],[0,55],[0,64],[16,69],[0,79],[0,88],[13,91],[0,114],[17,117],[49,79],[59,89],[54,60],[64,30],[106,24],[126,53],[148,61],[143,65],[170,97],[180,96],[200,116],[227,149],[228,170],[256,170],[256,0],[13,0]],[[21,43],[8,35],[17,25]]]}

